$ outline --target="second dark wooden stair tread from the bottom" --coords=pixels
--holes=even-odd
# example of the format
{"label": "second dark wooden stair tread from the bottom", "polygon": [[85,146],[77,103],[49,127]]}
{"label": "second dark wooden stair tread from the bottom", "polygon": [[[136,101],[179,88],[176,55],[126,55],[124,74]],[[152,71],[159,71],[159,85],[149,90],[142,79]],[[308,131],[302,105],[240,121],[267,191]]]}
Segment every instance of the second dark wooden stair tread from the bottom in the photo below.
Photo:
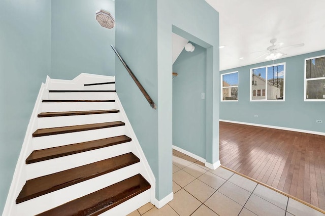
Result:
{"label": "second dark wooden stair tread from the bottom", "polygon": [[27,180],[16,199],[16,204],[107,174],[139,161],[140,159],[130,152],[36,179]]}

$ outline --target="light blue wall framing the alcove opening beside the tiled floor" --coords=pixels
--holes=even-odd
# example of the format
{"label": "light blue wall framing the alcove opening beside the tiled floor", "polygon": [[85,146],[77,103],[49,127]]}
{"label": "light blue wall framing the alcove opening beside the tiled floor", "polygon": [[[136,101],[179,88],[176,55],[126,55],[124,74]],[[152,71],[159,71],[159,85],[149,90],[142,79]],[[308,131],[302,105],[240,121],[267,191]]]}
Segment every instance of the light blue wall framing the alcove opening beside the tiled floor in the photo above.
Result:
{"label": "light blue wall framing the alcove opening beside the tiled floor", "polygon": [[219,14],[202,0],[158,1],[158,81],[161,83],[158,98],[165,106],[164,111],[159,112],[159,125],[164,128],[160,136],[162,143],[172,142],[172,135],[163,136],[166,132],[172,133],[172,104],[166,103],[172,97],[171,32],[207,49],[204,158],[215,163],[219,160]]}

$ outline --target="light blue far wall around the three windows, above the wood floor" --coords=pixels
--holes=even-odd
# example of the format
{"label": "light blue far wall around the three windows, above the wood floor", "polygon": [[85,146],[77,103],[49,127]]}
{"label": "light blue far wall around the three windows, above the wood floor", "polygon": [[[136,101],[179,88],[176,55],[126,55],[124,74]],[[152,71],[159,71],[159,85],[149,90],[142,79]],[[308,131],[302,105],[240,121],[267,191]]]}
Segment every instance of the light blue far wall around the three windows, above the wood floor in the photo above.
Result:
{"label": "light blue far wall around the three windows, above the wood floor", "polygon": [[[249,69],[273,64],[265,62],[249,65],[220,73],[239,72],[239,101],[220,102],[220,119],[247,123],[265,124],[280,127],[325,132],[325,102],[304,102],[304,62],[305,58],[325,55],[325,51],[283,58],[274,63],[285,62],[285,101],[249,102]],[[254,115],[258,115],[257,118]]]}

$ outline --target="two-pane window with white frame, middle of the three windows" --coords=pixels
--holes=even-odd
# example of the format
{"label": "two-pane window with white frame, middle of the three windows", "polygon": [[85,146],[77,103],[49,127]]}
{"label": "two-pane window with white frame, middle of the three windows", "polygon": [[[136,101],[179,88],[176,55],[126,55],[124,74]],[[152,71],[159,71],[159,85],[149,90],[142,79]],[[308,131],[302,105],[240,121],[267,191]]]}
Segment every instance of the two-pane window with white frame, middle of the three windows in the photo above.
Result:
{"label": "two-pane window with white frame, middle of the three windows", "polygon": [[250,101],[284,101],[285,63],[250,69]]}

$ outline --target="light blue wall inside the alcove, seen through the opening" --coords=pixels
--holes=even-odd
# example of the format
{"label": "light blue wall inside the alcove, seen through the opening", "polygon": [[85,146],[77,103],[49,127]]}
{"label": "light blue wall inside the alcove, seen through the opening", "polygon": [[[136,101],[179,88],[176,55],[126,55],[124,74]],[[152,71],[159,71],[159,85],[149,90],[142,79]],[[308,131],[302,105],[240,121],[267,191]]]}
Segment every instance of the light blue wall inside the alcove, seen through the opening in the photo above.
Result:
{"label": "light blue wall inside the alcove, seen through the opening", "polygon": [[206,158],[207,49],[194,44],[195,50],[179,55],[173,64],[173,145]]}

